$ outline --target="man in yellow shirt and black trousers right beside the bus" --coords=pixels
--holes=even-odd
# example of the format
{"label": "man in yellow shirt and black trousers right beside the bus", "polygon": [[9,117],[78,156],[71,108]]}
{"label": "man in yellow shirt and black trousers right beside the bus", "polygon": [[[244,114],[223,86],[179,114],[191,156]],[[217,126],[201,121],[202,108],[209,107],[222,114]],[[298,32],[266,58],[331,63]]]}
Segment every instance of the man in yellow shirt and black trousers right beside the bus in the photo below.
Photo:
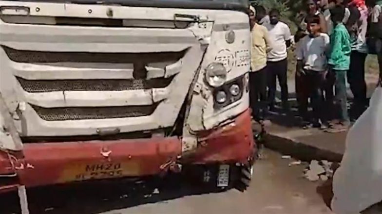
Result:
{"label": "man in yellow shirt and black trousers right beside the bus", "polygon": [[272,49],[267,28],[258,23],[266,15],[263,6],[249,7],[252,42],[249,100],[252,116],[260,123],[267,117],[267,52]]}

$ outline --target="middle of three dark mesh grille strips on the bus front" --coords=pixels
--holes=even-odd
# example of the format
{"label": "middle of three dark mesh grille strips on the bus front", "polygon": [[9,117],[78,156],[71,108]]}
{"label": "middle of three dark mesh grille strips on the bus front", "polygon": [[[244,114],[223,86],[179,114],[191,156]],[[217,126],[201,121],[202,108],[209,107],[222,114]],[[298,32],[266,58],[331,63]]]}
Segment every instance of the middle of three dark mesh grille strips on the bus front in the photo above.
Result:
{"label": "middle of three dark mesh grille strips on the bus front", "polygon": [[150,80],[25,80],[17,77],[21,87],[31,93],[51,91],[123,91],[167,87],[172,78]]}

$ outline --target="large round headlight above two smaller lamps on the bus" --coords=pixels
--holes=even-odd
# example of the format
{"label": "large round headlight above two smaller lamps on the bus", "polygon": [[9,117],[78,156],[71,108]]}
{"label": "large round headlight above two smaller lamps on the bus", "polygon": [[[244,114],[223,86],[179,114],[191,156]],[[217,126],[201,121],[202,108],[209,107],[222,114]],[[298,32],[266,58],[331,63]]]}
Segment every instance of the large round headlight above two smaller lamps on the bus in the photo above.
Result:
{"label": "large round headlight above two smaller lamps on the bus", "polygon": [[206,67],[206,81],[212,87],[219,87],[227,80],[227,70],[221,63],[211,63]]}

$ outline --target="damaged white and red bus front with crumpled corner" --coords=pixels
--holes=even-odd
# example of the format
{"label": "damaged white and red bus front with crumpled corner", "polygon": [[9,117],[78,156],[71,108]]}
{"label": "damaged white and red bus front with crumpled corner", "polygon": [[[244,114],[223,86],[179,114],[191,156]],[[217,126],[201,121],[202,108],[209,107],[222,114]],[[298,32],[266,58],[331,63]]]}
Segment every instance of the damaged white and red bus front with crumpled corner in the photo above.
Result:
{"label": "damaged white and red bus front with crumpled corner", "polygon": [[247,8],[0,0],[0,191],[192,166],[248,185]]}

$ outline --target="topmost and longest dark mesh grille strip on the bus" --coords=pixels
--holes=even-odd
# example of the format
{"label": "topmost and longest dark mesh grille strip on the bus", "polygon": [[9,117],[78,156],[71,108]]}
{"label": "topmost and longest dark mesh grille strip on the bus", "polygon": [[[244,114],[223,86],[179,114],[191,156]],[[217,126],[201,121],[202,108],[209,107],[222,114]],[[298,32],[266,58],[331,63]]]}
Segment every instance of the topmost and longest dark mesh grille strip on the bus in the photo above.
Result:
{"label": "topmost and longest dark mesh grille strip on the bus", "polygon": [[157,63],[178,61],[185,51],[157,53],[92,53],[92,52],[48,52],[16,50],[2,46],[5,53],[14,62],[20,63]]}

